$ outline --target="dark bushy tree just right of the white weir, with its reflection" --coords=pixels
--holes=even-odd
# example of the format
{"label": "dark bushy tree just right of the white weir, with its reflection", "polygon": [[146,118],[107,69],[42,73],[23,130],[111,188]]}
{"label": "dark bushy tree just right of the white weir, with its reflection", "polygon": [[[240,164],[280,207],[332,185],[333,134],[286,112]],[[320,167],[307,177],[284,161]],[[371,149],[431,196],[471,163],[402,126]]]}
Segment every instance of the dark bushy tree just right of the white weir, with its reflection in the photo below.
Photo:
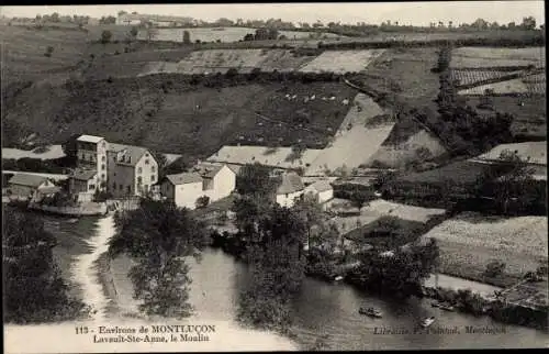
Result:
{"label": "dark bushy tree just right of the white weir, with its reflection", "polygon": [[189,266],[183,257],[200,259],[209,242],[204,224],[188,209],[172,202],[145,199],[137,210],[115,219],[120,230],[109,241],[109,255],[127,253],[138,264],[130,269],[134,298],[143,300],[139,310],[147,314],[182,318],[188,303]]}

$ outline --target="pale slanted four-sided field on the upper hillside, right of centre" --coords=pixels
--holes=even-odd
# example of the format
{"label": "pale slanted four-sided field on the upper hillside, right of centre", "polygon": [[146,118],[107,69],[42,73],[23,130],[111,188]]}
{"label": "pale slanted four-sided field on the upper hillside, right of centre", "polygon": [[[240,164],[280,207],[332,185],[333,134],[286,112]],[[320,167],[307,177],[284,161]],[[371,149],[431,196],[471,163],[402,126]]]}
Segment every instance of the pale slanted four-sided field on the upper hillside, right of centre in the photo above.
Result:
{"label": "pale slanted four-sided field on the upper hillside, right of centre", "polygon": [[384,49],[368,51],[328,51],[300,68],[304,73],[334,71],[338,74],[358,73],[383,54]]}

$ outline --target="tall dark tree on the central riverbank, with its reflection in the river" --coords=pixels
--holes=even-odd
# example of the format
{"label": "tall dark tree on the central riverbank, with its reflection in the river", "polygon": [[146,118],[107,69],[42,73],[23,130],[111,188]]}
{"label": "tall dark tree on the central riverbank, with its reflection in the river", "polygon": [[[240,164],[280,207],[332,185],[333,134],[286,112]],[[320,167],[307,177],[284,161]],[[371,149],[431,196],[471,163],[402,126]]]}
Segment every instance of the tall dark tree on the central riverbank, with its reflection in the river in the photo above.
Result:
{"label": "tall dark tree on the central riverbank, with its reflection in the river", "polygon": [[290,300],[304,277],[305,225],[288,208],[272,204],[249,241],[251,284],[240,295],[238,319],[264,328],[290,324]]}

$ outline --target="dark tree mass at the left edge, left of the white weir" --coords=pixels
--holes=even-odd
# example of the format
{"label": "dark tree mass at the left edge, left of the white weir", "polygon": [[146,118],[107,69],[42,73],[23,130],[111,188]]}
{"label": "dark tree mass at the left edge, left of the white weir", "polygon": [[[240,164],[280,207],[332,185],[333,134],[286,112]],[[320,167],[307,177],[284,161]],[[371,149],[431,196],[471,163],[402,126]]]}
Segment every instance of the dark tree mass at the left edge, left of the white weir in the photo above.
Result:
{"label": "dark tree mass at the left edge, left of the white weir", "polygon": [[44,223],[36,215],[3,209],[4,321],[40,323],[88,316],[89,308],[69,296],[52,253],[56,239]]}

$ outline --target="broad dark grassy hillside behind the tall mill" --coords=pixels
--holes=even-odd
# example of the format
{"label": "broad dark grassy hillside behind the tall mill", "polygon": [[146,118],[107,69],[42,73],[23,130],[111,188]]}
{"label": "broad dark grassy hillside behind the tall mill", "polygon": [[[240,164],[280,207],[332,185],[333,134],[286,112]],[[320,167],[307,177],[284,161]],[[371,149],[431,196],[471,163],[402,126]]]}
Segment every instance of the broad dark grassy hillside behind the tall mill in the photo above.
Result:
{"label": "broad dark grassy hillside behind the tall mill", "polygon": [[[173,85],[165,92],[161,86],[168,80]],[[287,92],[299,97],[334,95],[337,100],[289,101]],[[22,132],[34,131],[46,143],[60,143],[76,133],[98,134],[192,157],[209,156],[223,144],[236,143],[240,135],[247,144],[281,139],[280,144],[285,146],[301,140],[313,147],[325,144],[337,130],[348,110],[340,101],[351,99],[354,93],[338,82],[197,89],[178,81],[177,76],[33,87],[7,101],[5,121],[18,122],[19,126],[4,134],[16,141],[25,136]],[[276,122],[259,119],[255,111]],[[309,126],[316,132],[295,129],[298,117],[307,117]],[[259,137],[264,137],[262,143]]]}

